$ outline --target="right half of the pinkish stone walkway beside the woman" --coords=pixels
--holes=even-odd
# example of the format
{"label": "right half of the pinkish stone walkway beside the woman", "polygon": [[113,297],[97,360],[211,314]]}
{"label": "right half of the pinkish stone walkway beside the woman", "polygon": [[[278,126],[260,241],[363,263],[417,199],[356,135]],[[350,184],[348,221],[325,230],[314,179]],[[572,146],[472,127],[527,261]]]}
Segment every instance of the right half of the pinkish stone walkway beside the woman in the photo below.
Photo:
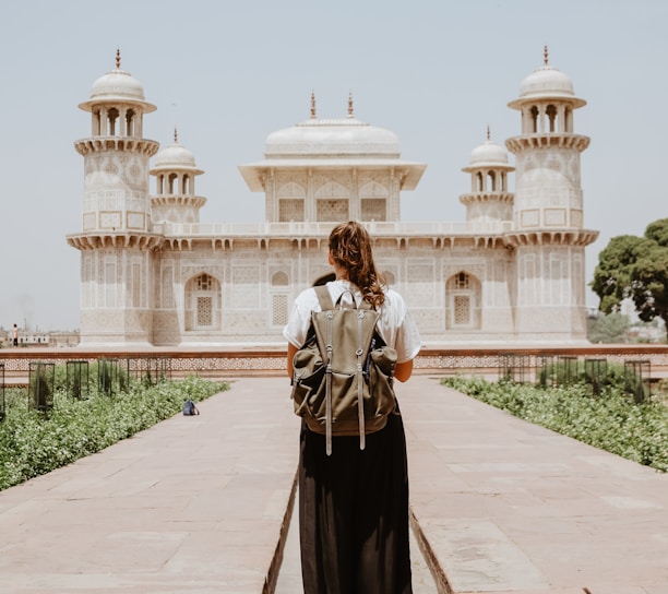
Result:
{"label": "right half of the pinkish stone walkway beside the woman", "polygon": [[668,475],[438,378],[397,393],[413,513],[454,592],[668,594]]}

